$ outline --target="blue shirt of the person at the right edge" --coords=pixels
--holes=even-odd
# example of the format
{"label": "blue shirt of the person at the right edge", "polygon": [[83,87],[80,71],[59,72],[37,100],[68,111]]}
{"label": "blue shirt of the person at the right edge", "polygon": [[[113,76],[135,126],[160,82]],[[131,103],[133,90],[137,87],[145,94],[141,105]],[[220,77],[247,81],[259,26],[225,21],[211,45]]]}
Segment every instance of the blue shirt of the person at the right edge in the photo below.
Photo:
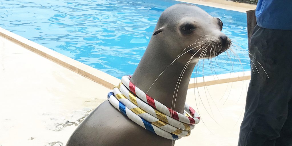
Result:
{"label": "blue shirt of the person at the right edge", "polygon": [[260,27],[292,30],[292,0],[258,0],[256,18]]}

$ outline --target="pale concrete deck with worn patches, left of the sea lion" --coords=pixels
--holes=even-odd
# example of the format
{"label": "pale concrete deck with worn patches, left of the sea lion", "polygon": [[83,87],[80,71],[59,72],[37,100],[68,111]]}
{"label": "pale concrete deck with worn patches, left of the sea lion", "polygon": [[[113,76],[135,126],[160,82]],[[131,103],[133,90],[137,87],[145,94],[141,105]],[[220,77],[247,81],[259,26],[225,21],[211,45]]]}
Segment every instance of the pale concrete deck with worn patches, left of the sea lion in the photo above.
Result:
{"label": "pale concrete deck with worn patches, left of the sea lion", "polygon": [[65,145],[109,90],[0,37],[0,145]]}

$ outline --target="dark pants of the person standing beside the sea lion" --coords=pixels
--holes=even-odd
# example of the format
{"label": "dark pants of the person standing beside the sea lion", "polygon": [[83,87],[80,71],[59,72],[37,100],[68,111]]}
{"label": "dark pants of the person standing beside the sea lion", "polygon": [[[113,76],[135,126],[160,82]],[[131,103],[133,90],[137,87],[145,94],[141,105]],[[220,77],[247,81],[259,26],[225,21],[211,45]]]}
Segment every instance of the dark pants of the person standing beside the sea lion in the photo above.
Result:
{"label": "dark pants of the person standing beside the sea lion", "polygon": [[292,31],[256,26],[249,51],[251,81],[238,146],[292,146]]}

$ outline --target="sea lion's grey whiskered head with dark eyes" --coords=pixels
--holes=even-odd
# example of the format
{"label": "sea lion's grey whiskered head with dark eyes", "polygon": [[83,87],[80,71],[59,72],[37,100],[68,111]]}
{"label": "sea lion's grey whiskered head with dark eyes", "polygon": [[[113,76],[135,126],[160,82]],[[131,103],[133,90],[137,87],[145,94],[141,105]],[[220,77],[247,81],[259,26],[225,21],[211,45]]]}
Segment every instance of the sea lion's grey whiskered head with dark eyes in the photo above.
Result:
{"label": "sea lion's grey whiskered head with dark eyes", "polygon": [[[152,38],[171,46],[164,47],[168,55],[194,55],[194,58],[213,58],[226,51],[231,40],[223,34],[223,22],[192,4],[175,4],[160,16]],[[158,39],[158,38],[157,38]]]}

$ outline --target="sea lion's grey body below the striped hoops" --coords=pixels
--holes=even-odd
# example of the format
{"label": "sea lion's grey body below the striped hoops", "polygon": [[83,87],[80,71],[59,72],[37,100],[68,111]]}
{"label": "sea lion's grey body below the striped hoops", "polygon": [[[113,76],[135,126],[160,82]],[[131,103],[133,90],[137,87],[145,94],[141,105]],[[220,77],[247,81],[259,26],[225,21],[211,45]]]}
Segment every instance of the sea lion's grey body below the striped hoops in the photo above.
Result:
{"label": "sea lion's grey body below the striped hoops", "polygon": [[78,126],[67,143],[67,146],[132,145],[171,146],[172,141],[157,136],[134,123],[114,108],[109,101],[100,104]]}

